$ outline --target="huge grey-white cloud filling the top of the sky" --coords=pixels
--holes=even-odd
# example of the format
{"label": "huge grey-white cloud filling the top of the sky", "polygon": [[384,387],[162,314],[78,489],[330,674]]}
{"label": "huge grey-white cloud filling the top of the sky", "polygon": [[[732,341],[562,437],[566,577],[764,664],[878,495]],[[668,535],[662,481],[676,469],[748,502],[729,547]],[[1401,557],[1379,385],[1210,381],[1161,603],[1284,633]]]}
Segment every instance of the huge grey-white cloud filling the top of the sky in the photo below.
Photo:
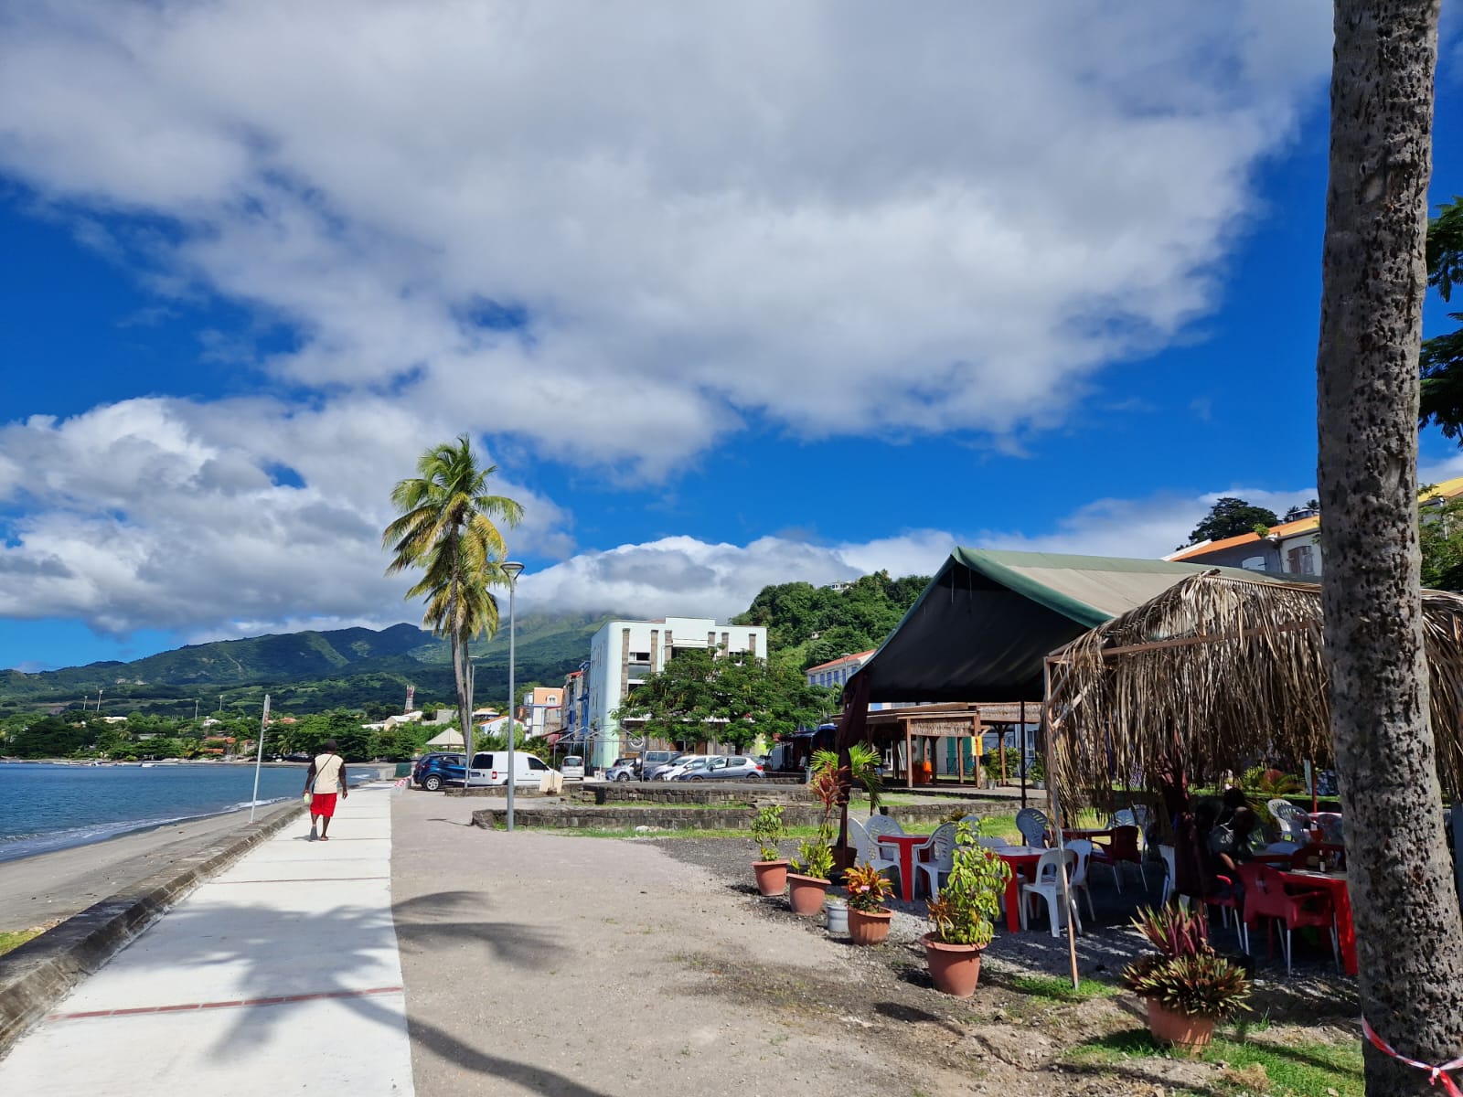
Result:
{"label": "huge grey-white cloud filling the top of the sky", "polygon": [[170,221],[164,284],[297,328],[279,376],[573,461],[1043,426],[1214,306],[1325,12],[920,15],[53,0],[6,15],[0,170]]}

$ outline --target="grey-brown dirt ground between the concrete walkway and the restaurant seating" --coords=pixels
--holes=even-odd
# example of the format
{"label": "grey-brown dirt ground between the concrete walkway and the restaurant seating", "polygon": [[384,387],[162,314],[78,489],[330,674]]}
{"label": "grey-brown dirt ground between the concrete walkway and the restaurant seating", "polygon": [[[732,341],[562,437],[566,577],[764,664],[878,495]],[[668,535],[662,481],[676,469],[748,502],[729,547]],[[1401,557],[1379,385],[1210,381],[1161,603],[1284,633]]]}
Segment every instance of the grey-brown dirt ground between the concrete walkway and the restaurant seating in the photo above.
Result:
{"label": "grey-brown dirt ground between the concrete walkway and the restaurant seating", "polygon": [[[758,897],[748,842],[487,832],[467,825],[480,806],[423,793],[395,806],[421,1097],[497,1091],[492,1079],[569,1097],[1220,1091],[1219,1065],[1064,1060],[1071,1044],[1144,1021],[1127,995],[1061,1002],[1023,989],[1023,976],[1065,965],[1046,935],[1017,935],[1008,957],[992,949],[960,1002],[930,986],[909,911],[891,943],[854,948]],[[1084,964],[1091,974],[1102,961]],[[1333,999],[1302,977],[1267,999],[1282,1024],[1265,1038],[1289,1038],[1289,1011],[1314,1022]]]}

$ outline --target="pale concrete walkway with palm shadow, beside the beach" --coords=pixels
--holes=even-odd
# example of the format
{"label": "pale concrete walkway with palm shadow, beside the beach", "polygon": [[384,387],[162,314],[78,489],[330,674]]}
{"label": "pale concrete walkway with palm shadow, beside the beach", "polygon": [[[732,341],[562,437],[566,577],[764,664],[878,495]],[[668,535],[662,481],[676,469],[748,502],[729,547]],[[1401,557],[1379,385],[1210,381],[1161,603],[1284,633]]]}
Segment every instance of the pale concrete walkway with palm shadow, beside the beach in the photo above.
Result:
{"label": "pale concrete walkway with palm shadow, beside the beach", "polygon": [[0,1094],[411,1097],[389,785],[199,886],[0,1060]]}

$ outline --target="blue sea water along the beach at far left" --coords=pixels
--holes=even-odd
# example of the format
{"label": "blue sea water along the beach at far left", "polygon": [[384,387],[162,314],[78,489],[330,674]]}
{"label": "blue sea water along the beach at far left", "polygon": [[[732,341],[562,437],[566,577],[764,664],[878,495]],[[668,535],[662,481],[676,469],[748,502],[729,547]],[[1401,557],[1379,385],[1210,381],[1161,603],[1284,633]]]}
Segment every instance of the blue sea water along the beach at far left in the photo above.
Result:
{"label": "blue sea water along the beach at far left", "polygon": [[[257,803],[300,796],[304,772],[304,765],[260,768]],[[249,807],[253,790],[252,765],[4,762],[0,862]]]}

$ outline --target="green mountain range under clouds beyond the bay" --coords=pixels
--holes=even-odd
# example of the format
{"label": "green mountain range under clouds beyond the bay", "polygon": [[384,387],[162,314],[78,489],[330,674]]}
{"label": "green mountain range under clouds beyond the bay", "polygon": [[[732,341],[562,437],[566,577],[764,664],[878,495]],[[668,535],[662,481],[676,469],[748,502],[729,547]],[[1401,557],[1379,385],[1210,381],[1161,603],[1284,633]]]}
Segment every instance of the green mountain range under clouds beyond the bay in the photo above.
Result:
{"label": "green mountain range under clouds beyond the bay", "polygon": [[[516,686],[560,685],[590,657],[590,638],[609,616],[530,613],[516,623]],[[452,663],[446,641],[414,625],[389,629],[334,629],[190,644],[130,663],[91,663],[25,674],[0,671],[0,715],[18,711],[79,708],[126,715],[192,715],[247,709],[263,695],[279,712],[376,706],[399,711],[407,686],[417,702],[452,705]],[[473,645],[480,704],[508,701],[508,632]]]}

